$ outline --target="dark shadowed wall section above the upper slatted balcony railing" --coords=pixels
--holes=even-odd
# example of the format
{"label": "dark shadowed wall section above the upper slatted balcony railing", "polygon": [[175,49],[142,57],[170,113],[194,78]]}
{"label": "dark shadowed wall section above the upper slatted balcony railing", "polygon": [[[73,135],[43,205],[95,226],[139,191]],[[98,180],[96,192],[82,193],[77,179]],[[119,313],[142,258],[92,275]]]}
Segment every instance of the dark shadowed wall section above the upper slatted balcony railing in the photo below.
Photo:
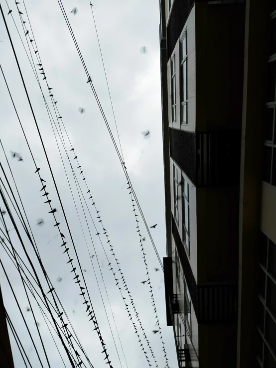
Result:
{"label": "dark shadowed wall section above the upper slatted balcony railing", "polygon": [[241,127],[244,9],[195,5],[197,131]]}

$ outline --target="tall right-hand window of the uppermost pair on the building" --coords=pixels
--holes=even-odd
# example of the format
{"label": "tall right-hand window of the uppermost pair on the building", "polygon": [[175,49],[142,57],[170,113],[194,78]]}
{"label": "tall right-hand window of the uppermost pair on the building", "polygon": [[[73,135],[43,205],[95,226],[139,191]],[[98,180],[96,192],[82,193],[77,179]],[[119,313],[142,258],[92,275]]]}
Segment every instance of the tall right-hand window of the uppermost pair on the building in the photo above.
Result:
{"label": "tall right-hand window of the uppermost pair on the building", "polygon": [[187,37],[186,32],[180,41],[180,118],[187,124]]}

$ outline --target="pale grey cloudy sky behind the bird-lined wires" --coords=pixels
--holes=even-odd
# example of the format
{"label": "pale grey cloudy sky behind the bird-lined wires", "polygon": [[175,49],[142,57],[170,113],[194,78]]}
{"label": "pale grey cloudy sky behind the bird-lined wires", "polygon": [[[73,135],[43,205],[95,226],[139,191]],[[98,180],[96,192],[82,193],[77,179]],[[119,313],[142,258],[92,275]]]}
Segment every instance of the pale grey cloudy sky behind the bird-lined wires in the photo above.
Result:
{"label": "pale grey cloudy sky behind the bird-lined wires", "polygon": [[[23,42],[27,45],[15,3],[10,0],[7,2],[9,7],[12,9],[12,15]],[[126,166],[148,225],[150,226],[155,223],[158,224],[156,229],[151,229],[151,234],[159,255],[162,258],[166,255],[166,244],[158,0],[93,0],[92,3],[94,4],[93,10],[100,37]],[[146,279],[146,271],[139,248],[139,237],[136,233],[135,216],[132,212],[132,203],[130,196],[128,195],[129,190],[127,190],[127,180],[112,144],[107,127],[101,116],[92,90],[89,84],[86,83],[86,74],[57,0],[25,0],[25,5],[28,10],[33,35],[47,76],[47,81],[49,86],[53,88],[52,92],[55,100],[58,100],[57,106],[61,116],[63,117],[63,123],[67,129],[72,144],[75,147],[75,152],[80,164],[82,165],[86,182],[91,189],[93,199],[96,202],[97,210],[101,213],[104,227],[108,230],[116,257],[120,261],[121,269],[124,272],[128,287],[132,292],[140,320],[156,356],[158,367],[164,367],[165,360],[163,358],[159,335],[153,335],[151,332],[151,330],[156,327],[154,312],[150,302],[149,288],[148,285],[140,283],[140,281]],[[8,12],[6,3],[1,1],[1,6],[4,14],[6,15]],[[78,8],[78,13],[74,16],[70,11],[75,6]],[[64,2],[64,7],[89,70],[93,85],[118,144],[89,0],[67,0],[66,3]],[[27,21],[24,6],[21,1],[19,9],[23,12],[24,20]],[[121,364],[119,362],[87,249],[88,247],[91,254],[95,254],[82,211],[82,206],[78,197],[73,174],[70,170],[64,149],[60,145],[62,148],[62,157],[64,159],[81,221],[79,221],[77,216],[41,92],[17,34],[13,20],[10,15],[5,16],[5,18],[14,43],[14,48],[17,53],[37,123],[45,143],[56,183],[60,191],[73,239],[80,257],[80,263],[83,268],[87,270],[85,273],[86,282],[88,284],[90,296],[92,297],[93,308],[99,323],[100,331],[107,345],[108,354],[110,355],[113,367],[121,367],[121,364],[123,368],[146,367],[147,363],[142,351],[140,350],[138,339],[134,334],[133,325],[128,319],[123,300],[118,288],[115,287],[113,275],[108,269],[108,261],[102,245],[100,244],[99,239],[95,236],[95,228],[89,218],[88,211],[85,208],[96,254],[98,254],[100,268],[106,283],[110,304],[112,306],[114,319],[119,331],[127,364],[118,340],[113,316],[107,300],[107,294],[103,286],[100,269],[95,259],[96,257],[94,257],[93,265],[101,287],[102,297],[112,327],[114,339],[118,347]],[[27,29],[30,29],[28,22],[26,22],[26,26]],[[3,42],[0,43],[1,67],[5,74],[21,123],[25,129],[36,164],[40,167],[41,177],[47,180],[47,191],[50,193],[53,206],[58,209],[57,220],[61,223],[61,231],[65,234],[66,239],[68,239],[68,230],[51,180],[50,171],[35,123],[24,93],[4,23],[1,18],[0,40],[3,40]],[[140,52],[140,48],[143,45],[147,48],[146,54],[142,54]],[[46,84],[44,83],[45,81],[42,82],[41,76],[39,78],[43,93],[45,96],[48,96]],[[49,99],[48,103],[50,106],[50,98],[46,98]],[[85,108],[85,114],[80,114],[78,111],[79,107]],[[40,197],[41,193],[39,191],[41,189],[41,185],[39,178],[37,174],[34,174],[34,164],[31,160],[30,153],[1,74],[0,112],[0,139],[11,165],[12,173],[18,185],[20,195],[22,196],[23,205],[25,206],[45,269],[56,288],[58,296],[60,297],[60,300],[68,313],[68,317],[70,318],[70,321],[73,324],[73,327],[76,330],[92,364],[95,368],[106,367],[105,362],[103,362],[103,355],[100,354],[101,346],[99,344],[98,336],[95,331],[92,331],[93,325],[90,325],[87,322],[88,318],[85,314],[85,307],[82,304],[83,300],[79,296],[79,289],[72,281],[72,273],[70,273],[70,268],[66,265],[67,258],[62,254],[60,238],[57,236],[57,229],[53,227],[53,217],[51,214],[48,214],[49,207],[44,204],[43,200],[45,197]],[[144,139],[141,134],[141,132],[146,129],[150,130],[150,137],[148,139]],[[64,134],[64,130],[62,131]],[[57,139],[60,143],[59,138]],[[69,149],[69,142],[66,138],[65,143],[67,149]],[[19,152],[22,155],[24,162],[13,160],[10,157],[10,150]],[[70,157],[73,158],[72,152],[70,152],[70,155]],[[0,162],[8,174],[8,167],[1,148]],[[75,168],[77,165],[74,162],[73,164]],[[75,172],[76,175],[79,175],[79,170],[75,170]],[[0,174],[0,177],[2,177],[2,173]],[[10,174],[8,174],[8,178],[11,180]],[[86,194],[84,182],[80,181],[80,185]],[[89,206],[97,229],[99,230],[100,224],[96,219],[96,211],[91,207],[91,202]],[[3,207],[2,201],[0,201],[0,207]],[[44,219],[45,223],[42,227],[35,225],[36,220],[39,218]],[[172,328],[166,326],[163,276],[161,270],[158,272],[154,271],[154,267],[160,268],[160,266],[152,245],[149,242],[140,216],[138,219],[141,234],[146,237],[144,249],[147,257],[147,264],[149,266],[153,294],[162,329],[162,336],[169,359],[169,366],[173,368],[176,367],[177,363]],[[80,222],[83,225],[85,238]],[[8,219],[7,224],[8,227],[12,229],[12,225]],[[18,238],[16,237],[14,230],[11,230],[9,234],[16,250],[25,260],[26,257],[23,254],[21,245],[18,242]],[[37,261],[35,261],[33,251],[27,242],[26,236],[24,236],[23,239],[26,242],[26,247],[31,259],[37,266]],[[110,252],[108,251],[109,248],[106,246],[106,238],[103,236],[102,241],[105,249],[107,250],[108,256],[111,258]],[[69,243],[70,242],[68,241],[68,244]],[[74,255],[71,244],[69,244],[69,246],[70,252]],[[8,277],[12,282],[12,287],[18,297],[28,326],[35,337],[39,352],[42,352],[41,346],[38,343],[38,335],[32,315],[25,310],[28,305],[28,301],[24,294],[19,274],[9,258],[5,255],[2,248],[0,249],[0,257],[6,268]],[[112,262],[114,262],[114,259],[111,259]],[[77,263],[75,266],[77,266]],[[42,273],[40,272],[39,275],[42,280]],[[60,283],[56,281],[58,277],[62,277]],[[15,305],[14,298],[10,292],[2,270],[0,270],[0,283],[4,304],[16,331],[19,334],[30,362],[33,367],[39,367],[31,341],[27,336],[26,328],[24,327],[22,319],[18,313],[18,308]],[[42,283],[46,290],[44,280]],[[41,312],[32,297],[31,303],[36,320],[40,323],[39,329],[43,337],[43,341],[45,342],[51,367],[62,367],[62,362],[57,350],[55,349],[46,323],[44,322]],[[61,344],[57,337],[55,335],[54,337],[60,347]],[[15,367],[23,367],[23,362],[13,338],[11,338],[11,344]],[[41,354],[41,356],[43,355]],[[63,351],[62,356],[65,359],[66,367],[69,367],[68,359],[66,360]],[[43,358],[43,365],[46,367],[45,362],[45,358]],[[154,363],[152,362],[151,364],[152,367],[154,367]]]}

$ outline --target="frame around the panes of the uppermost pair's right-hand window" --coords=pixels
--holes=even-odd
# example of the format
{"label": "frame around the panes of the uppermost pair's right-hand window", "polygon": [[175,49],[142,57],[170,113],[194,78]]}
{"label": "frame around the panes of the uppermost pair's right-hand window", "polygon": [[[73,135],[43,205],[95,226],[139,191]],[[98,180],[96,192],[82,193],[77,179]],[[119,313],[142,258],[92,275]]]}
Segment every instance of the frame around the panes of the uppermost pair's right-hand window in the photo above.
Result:
{"label": "frame around the panes of the uppermost pair's right-hand window", "polygon": [[[186,54],[185,56],[182,55],[182,44],[183,41],[185,39],[185,51]],[[185,29],[183,35],[180,38],[180,42],[179,42],[179,64],[180,64],[180,124],[181,125],[187,125],[188,124],[188,78],[187,78],[187,74],[188,74],[188,51],[187,51],[187,30]],[[184,100],[184,96],[183,96],[183,89],[184,89],[184,68],[183,65],[186,65],[185,67],[185,88],[186,88],[186,99]],[[182,108],[186,106],[186,122],[184,122],[183,120],[183,110]]]}

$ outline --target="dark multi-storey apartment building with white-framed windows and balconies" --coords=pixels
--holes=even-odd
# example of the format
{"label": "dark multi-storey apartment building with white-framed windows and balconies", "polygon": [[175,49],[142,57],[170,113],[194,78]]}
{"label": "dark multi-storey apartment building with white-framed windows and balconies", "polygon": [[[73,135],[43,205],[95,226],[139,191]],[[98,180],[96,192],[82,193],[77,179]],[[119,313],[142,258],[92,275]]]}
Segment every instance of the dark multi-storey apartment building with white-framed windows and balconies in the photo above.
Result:
{"label": "dark multi-storey apartment building with white-framed windows and balconies", "polygon": [[179,367],[276,367],[275,10],[160,0],[165,296]]}

